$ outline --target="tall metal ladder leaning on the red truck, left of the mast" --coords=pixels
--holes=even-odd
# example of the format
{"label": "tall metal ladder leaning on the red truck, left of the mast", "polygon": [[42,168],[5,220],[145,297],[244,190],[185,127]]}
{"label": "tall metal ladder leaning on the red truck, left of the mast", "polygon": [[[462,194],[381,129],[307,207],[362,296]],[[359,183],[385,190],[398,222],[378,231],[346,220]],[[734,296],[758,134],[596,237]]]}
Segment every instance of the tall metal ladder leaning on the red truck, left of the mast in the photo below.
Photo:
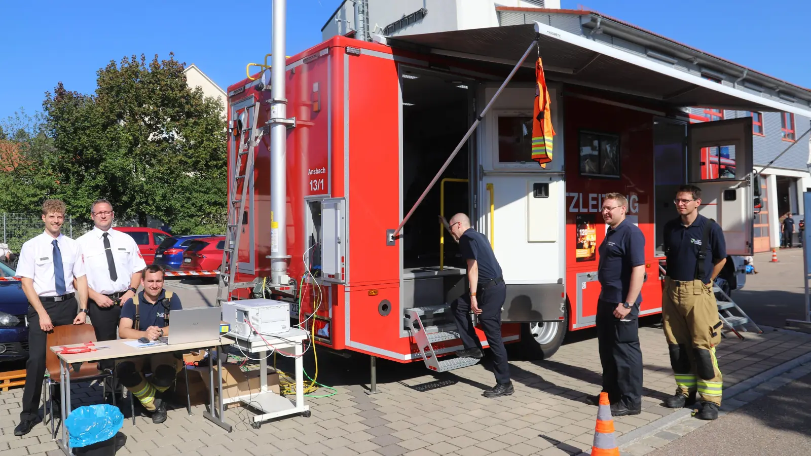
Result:
{"label": "tall metal ladder leaning on the red truck, left of the mast", "polygon": [[[245,213],[245,198],[254,172],[254,151],[264,135],[264,128],[256,127],[259,110],[260,103],[257,101],[253,106],[253,118],[251,118],[250,127],[245,127],[248,110],[243,111],[239,118],[244,131],[239,131],[239,148],[237,159],[234,161],[234,176],[228,189],[228,226],[225,230],[225,247],[222,249],[220,280],[217,286],[217,306],[221,306],[222,303],[230,299],[232,290],[255,286],[255,282],[234,283],[234,276],[236,276],[238,269],[239,238],[240,234],[242,234],[242,214]],[[246,157],[245,174],[239,174],[242,168],[242,157]],[[242,183],[242,192],[237,198],[236,193],[240,183]]]}

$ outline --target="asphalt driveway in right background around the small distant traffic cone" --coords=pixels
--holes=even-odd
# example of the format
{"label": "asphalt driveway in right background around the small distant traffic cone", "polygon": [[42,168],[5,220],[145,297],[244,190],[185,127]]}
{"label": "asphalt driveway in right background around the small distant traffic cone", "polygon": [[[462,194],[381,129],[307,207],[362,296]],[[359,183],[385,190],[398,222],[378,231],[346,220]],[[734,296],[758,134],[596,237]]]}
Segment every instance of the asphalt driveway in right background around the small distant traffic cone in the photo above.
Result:
{"label": "asphalt driveway in right background around the small distant traffic cone", "polygon": [[786,319],[805,320],[803,249],[781,249],[777,257],[771,263],[771,252],[755,255],[757,274],[746,276],[744,289],[733,291],[732,300],[757,325],[783,328]]}

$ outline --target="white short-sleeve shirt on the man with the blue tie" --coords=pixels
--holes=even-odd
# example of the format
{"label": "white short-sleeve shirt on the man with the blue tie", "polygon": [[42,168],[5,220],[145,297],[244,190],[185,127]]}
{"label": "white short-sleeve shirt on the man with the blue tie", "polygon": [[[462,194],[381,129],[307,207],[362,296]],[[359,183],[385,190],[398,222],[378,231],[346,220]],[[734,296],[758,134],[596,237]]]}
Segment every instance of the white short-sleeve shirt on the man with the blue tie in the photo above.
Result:
{"label": "white short-sleeve shirt on the man with the blue tie", "polygon": [[[84,276],[84,259],[79,243],[59,234],[56,239],[62,256],[62,271],[65,273],[65,293],[75,293],[73,278]],[[54,238],[43,231],[36,238],[28,239],[19,251],[17,275],[34,281],[37,296],[58,296],[54,279]]]}

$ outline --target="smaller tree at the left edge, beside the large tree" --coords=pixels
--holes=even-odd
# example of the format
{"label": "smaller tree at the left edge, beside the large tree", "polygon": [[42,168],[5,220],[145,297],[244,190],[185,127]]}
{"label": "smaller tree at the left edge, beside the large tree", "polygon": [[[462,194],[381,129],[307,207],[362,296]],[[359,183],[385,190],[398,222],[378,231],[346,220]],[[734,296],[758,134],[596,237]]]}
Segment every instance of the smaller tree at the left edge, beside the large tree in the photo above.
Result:
{"label": "smaller tree at the left edge, beside the large tree", "polygon": [[56,192],[51,169],[57,154],[46,132],[41,113],[20,110],[0,120],[0,212],[39,213],[42,201]]}

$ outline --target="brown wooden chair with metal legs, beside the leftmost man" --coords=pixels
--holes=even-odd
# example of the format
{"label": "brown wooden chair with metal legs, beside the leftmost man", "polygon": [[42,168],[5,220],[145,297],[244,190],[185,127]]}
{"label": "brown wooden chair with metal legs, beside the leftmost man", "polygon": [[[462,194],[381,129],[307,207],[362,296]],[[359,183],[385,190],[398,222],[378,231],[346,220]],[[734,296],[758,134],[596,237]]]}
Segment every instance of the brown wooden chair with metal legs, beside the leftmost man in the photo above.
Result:
{"label": "brown wooden chair with metal legs, beside the leftmost man", "polygon": [[[52,439],[56,438],[56,429],[54,429],[54,398],[50,397],[50,388],[52,385],[61,383],[62,377],[59,372],[59,358],[56,353],[50,350],[50,347],[84,342],[97,342],[96,332],[92,325],[54,326],[54,331],[48,334],[48,342],[45,348],[45,368],[48,369],[49,376],[45,378],[42,396],[45,403],[45,414],[49,415]],[[114,372],[111,369],[102,371],[99,369],[98,363],[70,364],[68,368],[71,369],[71,385],[79,381],[106,380],[107,378],[113,380],[114,378]],[[115,394],[113,394],[113,406],[115,407]]]}

